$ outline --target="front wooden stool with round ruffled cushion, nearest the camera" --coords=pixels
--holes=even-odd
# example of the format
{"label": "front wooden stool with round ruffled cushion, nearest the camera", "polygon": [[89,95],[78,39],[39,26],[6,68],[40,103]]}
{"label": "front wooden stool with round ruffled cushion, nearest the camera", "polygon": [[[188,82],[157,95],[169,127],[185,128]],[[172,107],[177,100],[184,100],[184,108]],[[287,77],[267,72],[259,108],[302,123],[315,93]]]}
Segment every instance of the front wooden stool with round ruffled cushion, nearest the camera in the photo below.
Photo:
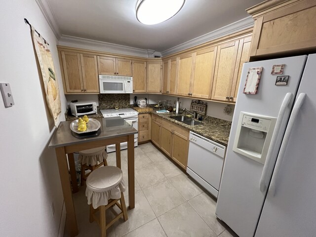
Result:
{"label": "front wooden stool with round ruffled cushion, nearest the camera", "polygon": [[[121,216],[124,217],[124,221],[128,219],[123,195],[123,172],[116,166],[100,167],[91,172],[86,180],[86,186],[85,196],[90,205],[90,223],[96,221],[101,228],[101,237],[106,237],[106,230]],[[121,212],[106,225],[105,211],[115,204]],[[99,216],[94,214],[97,210],[100,212]]]}

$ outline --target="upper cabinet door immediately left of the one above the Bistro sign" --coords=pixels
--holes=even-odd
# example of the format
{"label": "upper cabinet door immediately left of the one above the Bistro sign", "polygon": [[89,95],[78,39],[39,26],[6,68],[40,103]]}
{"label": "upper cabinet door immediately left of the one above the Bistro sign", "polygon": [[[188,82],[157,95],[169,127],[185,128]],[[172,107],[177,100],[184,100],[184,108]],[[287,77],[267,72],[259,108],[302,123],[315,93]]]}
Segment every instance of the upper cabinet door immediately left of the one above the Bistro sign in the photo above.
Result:
{"label": "upper cabinet door immediately left of the one above the Bistro sign", "polygon": [[190,96],[191,79],[193,72],[193,53],[179,57],[179,77],[177,83],[177,95]]}

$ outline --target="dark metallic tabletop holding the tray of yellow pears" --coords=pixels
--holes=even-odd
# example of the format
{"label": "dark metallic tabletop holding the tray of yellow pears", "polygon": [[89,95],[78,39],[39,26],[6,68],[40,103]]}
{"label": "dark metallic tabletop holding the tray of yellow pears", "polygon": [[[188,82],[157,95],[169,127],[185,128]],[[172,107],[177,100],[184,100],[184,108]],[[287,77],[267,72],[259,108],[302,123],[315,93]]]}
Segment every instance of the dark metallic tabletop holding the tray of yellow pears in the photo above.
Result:
{"label": "dark metallic tabletop holding the tray of yellow pears", "polygon": [[60,122],[49,143],[49,148],[64,147],[85,142],[127,136],[137,133],[137,130],[128,124],[123,118],[95,118],[101,123],[100,135],[96,137],[77,138],[72,134],[70,124],[72,121]]}

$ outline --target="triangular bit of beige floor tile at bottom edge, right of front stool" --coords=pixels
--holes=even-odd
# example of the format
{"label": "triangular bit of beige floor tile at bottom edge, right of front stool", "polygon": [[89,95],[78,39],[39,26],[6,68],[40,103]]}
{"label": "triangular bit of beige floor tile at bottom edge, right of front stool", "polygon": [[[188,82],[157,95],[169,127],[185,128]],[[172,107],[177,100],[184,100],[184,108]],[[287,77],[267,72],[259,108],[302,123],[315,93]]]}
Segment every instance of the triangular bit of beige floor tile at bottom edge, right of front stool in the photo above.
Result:
{"label": "triangular bit of beige floor tile at bottom edge, right of front stool", "polygon": [[167,237],[157,218],[126,234],[124,237]]}

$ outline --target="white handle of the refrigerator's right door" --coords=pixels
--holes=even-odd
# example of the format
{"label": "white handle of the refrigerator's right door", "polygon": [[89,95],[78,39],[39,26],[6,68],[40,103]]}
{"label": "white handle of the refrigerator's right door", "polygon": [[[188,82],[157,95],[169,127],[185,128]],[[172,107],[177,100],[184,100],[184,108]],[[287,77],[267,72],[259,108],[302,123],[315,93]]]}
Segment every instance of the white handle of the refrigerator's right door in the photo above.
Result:
{"label": "white handle of the refrigerator's right door", "polygon": [[284,158],[284,154],[285,154],[285,151],[286,151],[288,140],[290,139],[292,128],[293,128],[294,123],[296,121],[296,118],[298,116],[298,112],[300,111],[300,109],[301,109],[301,107],[303,105],[305,97],[306,97],[305,93],[301,93],[298,96],[298,98],[297,98],[297,100],[296,100],[296,102],[294,104],[291,117],[290,117],[290,119],[288,121],[287,128],[286,128],[286,131],[285,131],[285,134],[284,134],[284,138],[283,138],[283,141],[282,141],[282,145],[281,145],[281,148],[280,148],[280,152],[279,152],[278,158],[276,160],[276,167],[275,167],[275,170],[273,172],[273,176],[272,176],[272,179],[271,179],[271,184],[270,184],[270,187],[269,187],[269,194],[271,194],[272,196],[275,195],[277,174],[278,174],[278,172],[280,170],[282,159]]}

